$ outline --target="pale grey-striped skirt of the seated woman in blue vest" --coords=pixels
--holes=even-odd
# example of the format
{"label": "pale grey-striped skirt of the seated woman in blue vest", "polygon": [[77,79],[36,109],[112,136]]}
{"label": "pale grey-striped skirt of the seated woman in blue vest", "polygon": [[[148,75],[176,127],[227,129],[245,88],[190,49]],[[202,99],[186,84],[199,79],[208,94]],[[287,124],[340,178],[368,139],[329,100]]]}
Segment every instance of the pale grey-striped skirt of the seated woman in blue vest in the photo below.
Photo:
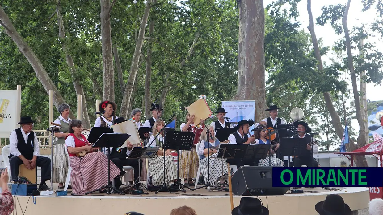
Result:
{"label": "pale grey-striped skirt of the seated woman in blue vest", "polygon": [[[214,184],[216,180],[228,173],[228,165],[226,158],[216,158],[217,153],[214,153],[209,158],[209,181],[210,184]],[[205,180],[208,179],[208,158],[205,157],[200,160],[201,173],[205,176]]]}

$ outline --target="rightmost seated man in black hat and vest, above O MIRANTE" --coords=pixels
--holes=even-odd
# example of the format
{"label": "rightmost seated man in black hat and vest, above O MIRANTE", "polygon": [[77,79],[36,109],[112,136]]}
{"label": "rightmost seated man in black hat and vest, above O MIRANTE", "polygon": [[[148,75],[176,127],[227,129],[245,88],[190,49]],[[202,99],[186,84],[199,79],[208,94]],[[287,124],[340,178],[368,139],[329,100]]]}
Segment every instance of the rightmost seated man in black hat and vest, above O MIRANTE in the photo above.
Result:
{"label": "rightmost seated man in black hat and vest, above O MIRANTE", "polygon": [[[305,138],[309,139],[309,142],[315,141],[315,138],[311,135],[304,133],[304,132],[311,132],[311,128],[308,126],[308,124],[304,121],[295,121],[294,125],[297,126],[298,134],[293,135],[291,138]],[[303,132],[302,132],[303,131]],[[318,145],[313,144],[311,146],[310,144],[307,144],[306,149],[311,152],[311,147],[313,147],[313,154],[318,154]],[[312,156],[305,156],[305,157],[296,157],[293,158],[293,166],[294,167],[301,167],[302,165],[306,165],[307,167],[318,167],[318,162],[313,158]]]}

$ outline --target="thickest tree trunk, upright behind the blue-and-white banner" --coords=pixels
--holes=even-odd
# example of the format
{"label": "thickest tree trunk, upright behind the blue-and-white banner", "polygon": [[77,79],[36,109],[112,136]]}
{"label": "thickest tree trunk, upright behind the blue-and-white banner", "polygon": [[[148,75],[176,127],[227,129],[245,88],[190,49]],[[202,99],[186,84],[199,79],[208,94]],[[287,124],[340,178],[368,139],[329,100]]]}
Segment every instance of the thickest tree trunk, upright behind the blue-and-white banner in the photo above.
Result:
{"label": "thickest tree trunk, upright behind the blue-and-white banner", "polygon": [[238,88],[233,100],[255,100],[255,121],[267,117],[263,1],[239,2]]}

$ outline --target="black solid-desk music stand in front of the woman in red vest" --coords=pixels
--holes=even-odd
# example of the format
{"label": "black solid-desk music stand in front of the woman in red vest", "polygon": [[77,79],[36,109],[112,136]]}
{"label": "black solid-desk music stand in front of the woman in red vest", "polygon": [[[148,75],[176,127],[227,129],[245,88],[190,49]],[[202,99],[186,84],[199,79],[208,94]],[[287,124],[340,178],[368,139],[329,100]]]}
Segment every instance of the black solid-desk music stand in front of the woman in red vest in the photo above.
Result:
{"label": "black solid-desk music stand in front of the woman in red vest", "polygon": [[[94,128],[97,128],[97,127],[94,127]],[[112,148],[112,147],[120,147],[121,145],[124,144],[124,142],[126,140],[128,140],[129,137],[130,137],[130,134],[116,134],[116,133],[108,134],[108,133],[104,133],[104,134],[101,134],[100,138],[98,138],[98,140],[95,142],[95,144],[93,144],[93,146],[94,147],[106,147],[108,149]],[[110,150],[108,150],[108,184],[106,184],[105,186],[102,186],[101,188],[98,188],[94,191],[86,192],[85,195],[91,194],[92,192],[95,192],[95,191],[101,191],[101,189],[107,189],[106,194],[111,194],[113,191],[115,191],[119,194],[125,195],[124,193],[120,192],[116,188],[113,188],[113,185],[110,182],[110,162],[111,162],[110,161]]]}

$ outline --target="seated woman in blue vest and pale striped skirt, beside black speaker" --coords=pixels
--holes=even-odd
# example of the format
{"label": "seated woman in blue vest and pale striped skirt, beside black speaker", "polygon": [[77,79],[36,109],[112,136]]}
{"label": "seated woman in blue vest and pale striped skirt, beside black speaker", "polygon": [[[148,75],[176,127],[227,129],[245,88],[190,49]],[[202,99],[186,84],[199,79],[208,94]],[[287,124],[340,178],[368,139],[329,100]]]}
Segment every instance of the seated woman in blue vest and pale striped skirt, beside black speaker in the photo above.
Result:
{"label": "seated woman in blue vest and pale striped skirt, beside black speaker", "polygon": [[[208,129],[210,133],[208,132]],[[220,178],[221,187],[224,188],[224,179],[228,173],[227,163],[225,158],[217,158],[217,150],[219,140],[216,139],[213,126],[206,126],[201,134],[201,143],[197,149],[197,154],[200,156],[200,168],[202,175],[207,179],[208,176],[208,154],[209,158],[209,181],[210,184]],[[214,148],[214,149],[213,149]],[[213,159],[212,159],[213,158]]]}

